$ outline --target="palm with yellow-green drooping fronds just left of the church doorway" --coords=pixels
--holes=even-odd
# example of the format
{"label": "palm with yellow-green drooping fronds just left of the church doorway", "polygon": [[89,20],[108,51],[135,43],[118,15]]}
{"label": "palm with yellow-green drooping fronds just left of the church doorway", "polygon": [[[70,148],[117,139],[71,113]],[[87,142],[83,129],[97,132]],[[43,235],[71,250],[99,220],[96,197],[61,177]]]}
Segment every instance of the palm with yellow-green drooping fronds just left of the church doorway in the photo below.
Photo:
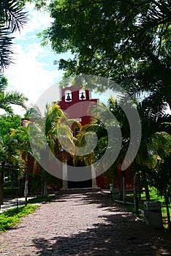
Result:
{"label": "palm with yellow-green drooping fronds just left of the church doorway", "polygon": [[37,106],[28,110],[27,114],[27,117],[30,118],[31,147],[34,148],[34,158],[40,163],[42,196],[45,196],[47,193],[47,173],[45,169],[48,169],[51,154],[60,159],[61,162],[73,157],[74,152],[72,151],[73,154],[68,152],[69,147],[72,150],[75,146],[72,129],[69,127],[73,120],[67,120],[64,112],[55,104],[46,106],[45,116],[42,116]]}

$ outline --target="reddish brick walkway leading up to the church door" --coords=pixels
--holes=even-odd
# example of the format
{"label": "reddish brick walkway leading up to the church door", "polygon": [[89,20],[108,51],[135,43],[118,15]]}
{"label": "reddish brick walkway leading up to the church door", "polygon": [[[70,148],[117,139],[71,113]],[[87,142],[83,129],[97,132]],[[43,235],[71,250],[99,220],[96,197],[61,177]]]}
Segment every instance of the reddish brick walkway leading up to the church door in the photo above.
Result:
{"label": "reddish brick walkway leading up to the church door", "polygon": [[100,191],[60,192],[0,233],[0,255],[171,255],[171,238]]}

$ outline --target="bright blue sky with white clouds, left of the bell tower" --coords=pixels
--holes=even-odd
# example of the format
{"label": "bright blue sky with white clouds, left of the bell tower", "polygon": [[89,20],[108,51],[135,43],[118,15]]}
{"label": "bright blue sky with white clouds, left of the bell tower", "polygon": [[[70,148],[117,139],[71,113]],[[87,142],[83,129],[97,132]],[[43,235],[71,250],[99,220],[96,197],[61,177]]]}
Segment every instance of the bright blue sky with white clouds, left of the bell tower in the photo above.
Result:
{"label": "bright blue sky with white clouds, left of the bell tower", "polygon": [[[56,55],[49,47],[41,47],[37,33],[50,26],[52,19],[46,12],[34,10],[33,4],[27,4],[28,23],[14,34],[12,58],[14,64],[5,69],[8,91],[18,91],[28,97],[27,106],[37,102],[39,96],[50,86],[58,83],[63,72],[53,64],[58,59],[68,59],[69,54]],[[15,113],[25,113],[20,107]]]}

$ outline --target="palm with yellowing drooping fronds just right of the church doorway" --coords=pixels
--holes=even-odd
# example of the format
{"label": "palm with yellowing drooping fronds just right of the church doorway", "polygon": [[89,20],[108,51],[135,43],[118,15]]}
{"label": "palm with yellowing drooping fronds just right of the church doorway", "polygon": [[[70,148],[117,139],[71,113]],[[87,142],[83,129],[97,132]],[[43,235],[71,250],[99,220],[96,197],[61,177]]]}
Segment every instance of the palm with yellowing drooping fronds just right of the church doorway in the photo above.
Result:
{"label": "palm with yellowing drooping fronds just right of the church doorway", "polygon": [[[102,174],[102,170],[107,170],[107,172],[103,173],[103,176],[112,177],[113,184],[115,187],[115,180],[118,176],[118,167],[123,162],[124,156],[126,155],[126,148],[128,148],[128,138],[129,138],[129,125],[128,121],[126,119],[126,116],[123,113],[123,110],[118,105],[118,102],[114,100],[112,97],[108,100],[107,105],[99,105],[99,108],[96,108],[91,111],[91,115],[94,116],[92,118],[91,124],[87,124],[82,129],[80,129],[80,132],[78,133],[78,143],[80,143],[80,146],[85,145],[85,143],[88,143],[87,140],[85,140],[85,135],[90,135],[94,132],[96,133],[96,136],[98,138],[98,142],[96,144],[96,148],[90,152],[90,154],[85,154],[82,159],[84,162],[87,162],[88,165],[95,164],[96,165],[96,173],[97,175]],[[113,113],[113,115],[109,114]],[[103,120],[102,120],[103,116]],[[114,118],[115,116],[115,118]],[[110,166],[109,159],[113,159],[113,156],[117,154],[118,152],[118,140],[117,136],[115,138],[108,138],[108,132],[109,129],[112,129],[113,135],[115,135],[115,129],[121,129],[122,133],[122,145],[121,145],[121,151],[118,154],[117,159],[115,159],[115,162]],[[90,139],[91,140],[91,139]],[[110,141],[110,146],[108,144],[108,140]],[[90,145],[92,146],[92,142],[90,141]],[[107,148],[108,147],[108,148]],[[109,149],[110,148],[110,149]],[[119,148],[120,149],[120,148]],[[109,152],[109,158],[106,159],[104,157],[104,160],[101,161],[103,155],[106,153],[106,151]],[[100,161],[99,161],[100,160]],[[106,169],[107,168],[107,169]],[[125,203],[125,182],[124,182],[124,173],[122,172],[122,181],[123,181],[123,202]]]}

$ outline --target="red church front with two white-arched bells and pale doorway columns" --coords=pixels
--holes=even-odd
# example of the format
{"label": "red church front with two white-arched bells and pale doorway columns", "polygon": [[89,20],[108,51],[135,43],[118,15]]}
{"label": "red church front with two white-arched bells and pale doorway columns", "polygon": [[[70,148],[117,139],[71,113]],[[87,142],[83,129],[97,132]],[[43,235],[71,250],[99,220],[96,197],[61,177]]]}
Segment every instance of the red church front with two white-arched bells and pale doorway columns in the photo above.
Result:
{"label": "red church front with two white-arched bells and pale doorway columns", "polygon": [[[91,99],[90,91],[83,89],[81,87],[65,87],[61,89],[61,101],[58,102],[58,105],[61,107],[61,110],[66,113],[68,118],[74,118],[80,121],[80,124],[84,126],[89,124],[92,116],[88,110],[94,102],[98,102],[99,99]],[[73,135],[77,136],[77,132],[74,129]],[[76,170],[77,172],[77,170]],[[78,187],[97,187],[96,178],[94,177],[94,170],[92,167],[89,167],[91,179],[88,181],[66,181],[69,180],[71,171],[69,170],[69,165],[67,162],[63,163],[63,189],[78,188]]]}

